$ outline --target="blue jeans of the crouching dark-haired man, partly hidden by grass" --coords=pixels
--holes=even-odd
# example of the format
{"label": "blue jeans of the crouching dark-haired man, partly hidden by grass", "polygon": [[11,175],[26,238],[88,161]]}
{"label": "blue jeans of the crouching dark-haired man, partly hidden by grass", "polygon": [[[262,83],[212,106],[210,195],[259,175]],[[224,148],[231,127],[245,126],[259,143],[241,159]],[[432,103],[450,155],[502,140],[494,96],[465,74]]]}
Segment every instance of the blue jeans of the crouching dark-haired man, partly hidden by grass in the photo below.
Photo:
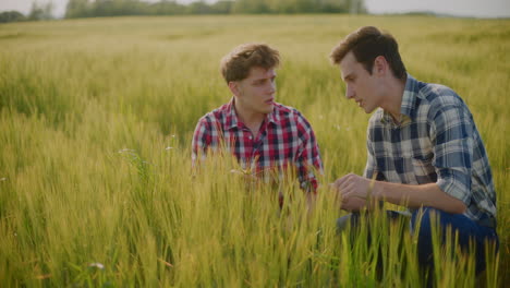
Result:
{"label": "blue jeans of the crouching dark-haired man, partly hidden by grass", "polygon": [[[409,216],[394,211],[387,211],[388,219],[406,219]],[[411,216],[411,231],[415,232],[416,227],[420,227],[417,239],[418,263],[424,269],[432,271],[434,265],[433,259],[433,242],[432,242],[432,215],[436,215],[439,223],[439,231],[441,236],[441,243],[446,242],[447,227],[451,227],[452,235],[457,231],[459,233],[459,245],[465,253],[475,253],[476,259],[476,274],[485,269],[485,242],[493,242],[496,244],[496,251],[499,249],[499,239],[496,229],[487,226],[479,225],[462,214],[450,214],[440,209],[432,207],[423,207],[415,211]],[[368,214],[369,215],[369,214]],[[421,217],[420,217],[421,216]],[[337,228],[342,231],[347,226],[356,227],[360,221],[361,215],[352,213],[343,216],[337,220]],[[420,223],[417,223],[420,220]],[[418,225],[420,224],[420,225]],[[475,251],[470,251],[470,240],[474,244]],[[368,242],[371,237],[368,236]],[[369,244],[369,243],[368,243]]]}

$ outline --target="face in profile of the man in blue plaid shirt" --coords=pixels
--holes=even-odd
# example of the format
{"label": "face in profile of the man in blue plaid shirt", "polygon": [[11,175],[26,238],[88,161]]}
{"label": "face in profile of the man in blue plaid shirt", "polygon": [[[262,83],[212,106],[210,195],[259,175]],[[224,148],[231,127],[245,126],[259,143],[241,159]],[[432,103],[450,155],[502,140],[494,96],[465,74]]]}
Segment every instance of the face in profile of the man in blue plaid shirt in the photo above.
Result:
{"label": "face in profile of the man in blue plaid shirt", "polygon": [[[363,64],[356,61],[354,53],[350,51],[340,62],[340,71],[343,82],[345,82],[345,97],[354,99],[357,105],[371,113],[380,106],[380,86],[375,73],[372,75],[365,70]],[[379,88],[378,88],[379,87]]]}

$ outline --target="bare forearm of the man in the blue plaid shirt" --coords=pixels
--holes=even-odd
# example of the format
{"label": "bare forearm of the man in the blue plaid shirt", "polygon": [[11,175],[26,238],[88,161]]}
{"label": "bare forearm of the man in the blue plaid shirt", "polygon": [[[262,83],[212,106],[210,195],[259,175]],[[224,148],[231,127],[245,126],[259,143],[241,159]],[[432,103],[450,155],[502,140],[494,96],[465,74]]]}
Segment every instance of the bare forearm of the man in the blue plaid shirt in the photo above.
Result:
{"label": "bare forearm of the man in the blue plaid shirt", "polygon": [[430,206],[453,214],[462,214],[465,211],[462,201],[442,192],[436,183],[410,185],[376,181],[373,196],[411,208]]}

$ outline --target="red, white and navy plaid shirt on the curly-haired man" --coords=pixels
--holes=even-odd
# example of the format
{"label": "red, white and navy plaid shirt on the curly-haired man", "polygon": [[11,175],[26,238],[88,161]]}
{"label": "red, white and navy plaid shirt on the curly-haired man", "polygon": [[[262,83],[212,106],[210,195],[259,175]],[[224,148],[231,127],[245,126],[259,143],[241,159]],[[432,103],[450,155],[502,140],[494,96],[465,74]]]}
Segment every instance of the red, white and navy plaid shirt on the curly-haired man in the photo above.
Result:
{"label": "red, white and navy plaid shirt on the curly-haired man", "polygon": [[270,171],[292,165],[301,188],[315,192],[317,180],[312,168],[321,171],[323,164],[314,131],[300,111],[275,104],[274,111],[267,115],[254,136],[238,119],[233,100],[198,120],[192,142],[193,161],[205,157],[208,149],[216,151],[223,145],[243,169],[258,176],[268,177]]}

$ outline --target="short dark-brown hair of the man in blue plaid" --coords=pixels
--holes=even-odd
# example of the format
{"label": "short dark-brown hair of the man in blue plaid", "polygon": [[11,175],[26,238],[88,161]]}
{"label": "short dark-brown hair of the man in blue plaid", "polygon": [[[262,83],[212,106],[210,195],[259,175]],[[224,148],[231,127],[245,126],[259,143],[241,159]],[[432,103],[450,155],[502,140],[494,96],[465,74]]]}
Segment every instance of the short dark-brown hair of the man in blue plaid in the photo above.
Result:
{"label": "short dark-brown hair of the man in blue plaid", "polygon": [[350,51],[354,53],[356,61],[363,64],[372,74],[374,60],[378,56],[385,57],[393,75],[405,79],[406,70],[399,53],[399,45],[389,33],[381,33],[374,26],[364,26],[349,34],[331,51],[329,56],[333,64],[340,64]]}

